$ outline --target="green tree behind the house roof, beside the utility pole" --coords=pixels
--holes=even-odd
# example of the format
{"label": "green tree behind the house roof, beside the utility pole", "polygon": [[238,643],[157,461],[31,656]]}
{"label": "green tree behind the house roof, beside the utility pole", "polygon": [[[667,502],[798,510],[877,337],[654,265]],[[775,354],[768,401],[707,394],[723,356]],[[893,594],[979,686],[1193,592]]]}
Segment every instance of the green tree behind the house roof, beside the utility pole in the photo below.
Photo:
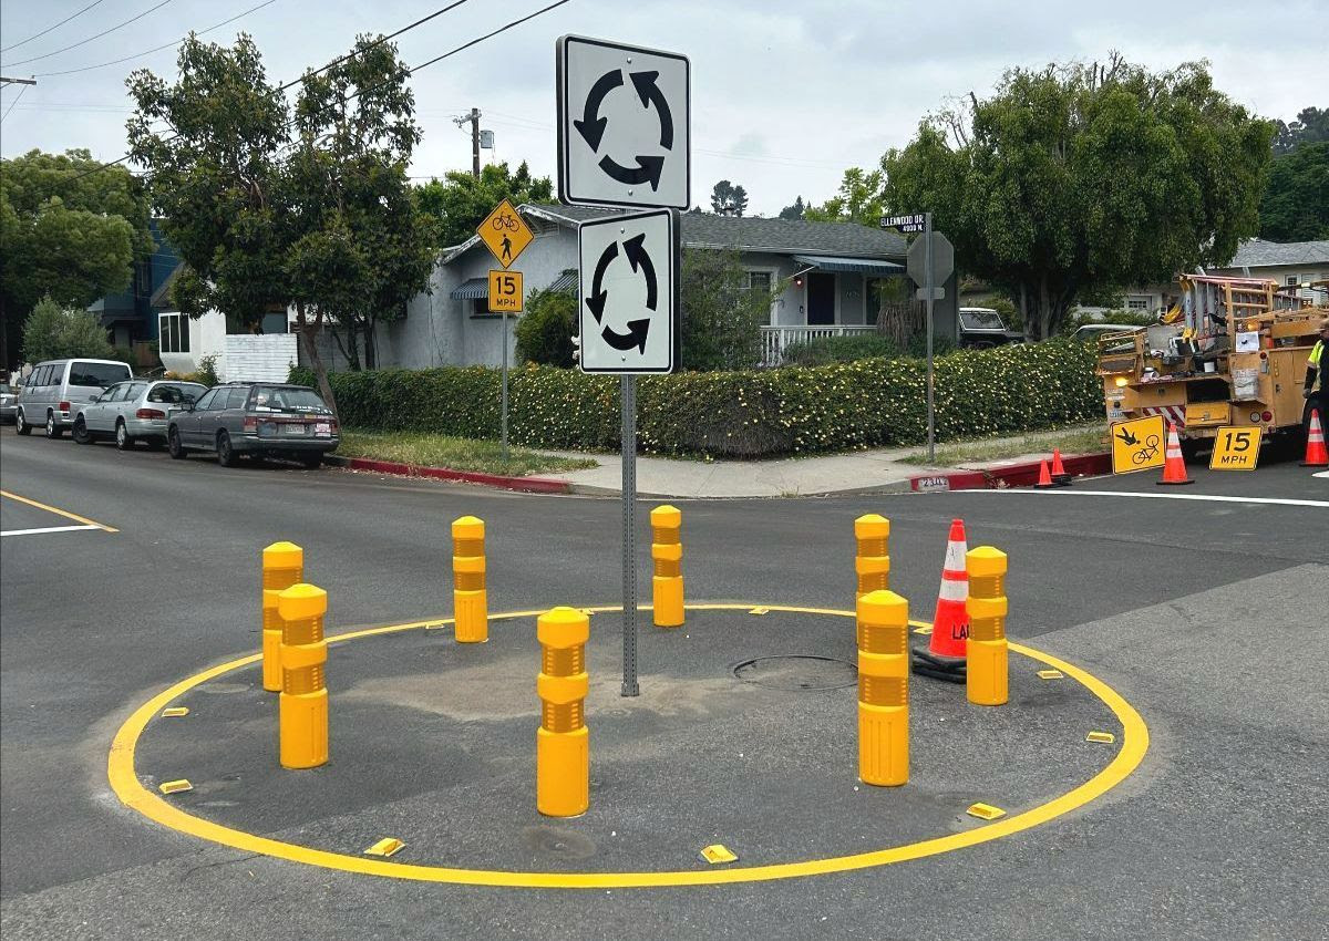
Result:
{"label": "green tree behind the house roof, beside the utility pole", "polygon": [[429,221],[429,243],[437,249],[461,245],[476,234],[502,199],[513,206],[524,202],[553,202],[554,182],[532,177],[522,161],[516,173],[506,163],[480,169],[480,179],[461,170],[449,170],[443,181],[432,179],[416,189],[420,209]]}

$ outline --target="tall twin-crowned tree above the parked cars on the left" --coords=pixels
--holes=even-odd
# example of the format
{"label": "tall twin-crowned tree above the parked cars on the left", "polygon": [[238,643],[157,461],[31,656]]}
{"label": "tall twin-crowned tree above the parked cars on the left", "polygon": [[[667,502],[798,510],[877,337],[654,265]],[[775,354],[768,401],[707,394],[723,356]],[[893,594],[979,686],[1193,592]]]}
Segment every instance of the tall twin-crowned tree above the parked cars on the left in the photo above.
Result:
{"label": "tall twin-crowned tree above the parked cars on the left", "polygon": [[360,343],[372,366],[375,324],[428,284],[432,250],[405,175],[420,136],[409,73],[395,47],[361,36],[344,61],[306,76],[292,117],[249,36],[230,49],[190,36],[178,66],[173,85],[148,70],[128,82],[132,157],[185,261],[174,299],[190,316],[242,323],[294,307],[335,409],[322,331],[344,338],[352,368]]}

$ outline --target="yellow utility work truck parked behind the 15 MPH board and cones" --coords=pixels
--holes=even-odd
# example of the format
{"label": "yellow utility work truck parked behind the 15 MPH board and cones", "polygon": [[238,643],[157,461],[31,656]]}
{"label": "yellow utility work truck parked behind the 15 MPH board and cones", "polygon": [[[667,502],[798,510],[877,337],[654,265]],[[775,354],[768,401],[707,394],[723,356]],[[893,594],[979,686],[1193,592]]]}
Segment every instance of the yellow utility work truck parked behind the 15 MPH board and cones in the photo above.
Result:
{"label": "yellow utility work truck parked behind the 15 MPH board and cones", "polygon": [[[1179,280],[1180,299],[1159,324],[1098,340],[1114,432],[1119,423],[1159,419],[1176,427],[1187,459],[1228,429],[1257,431],[1253,441],[1241,439],[1256,452],[1261,440],[1300,437],[1306,359],[1329,316],[1322,287],[1207,275]],[[1312,306],[1316,300],[1321,306]],[[1112,447],[1115,469],[1115,440]]]}

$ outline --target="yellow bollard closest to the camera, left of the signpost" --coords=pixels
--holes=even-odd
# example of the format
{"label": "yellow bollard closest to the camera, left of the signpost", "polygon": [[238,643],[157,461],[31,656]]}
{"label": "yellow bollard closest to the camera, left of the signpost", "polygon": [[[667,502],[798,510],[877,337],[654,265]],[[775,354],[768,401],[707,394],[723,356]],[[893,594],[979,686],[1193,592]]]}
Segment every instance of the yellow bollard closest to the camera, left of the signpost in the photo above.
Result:
{"label": "yellow bollard closest to the camera, left of the signpost", "polygon": [[549,817],[575,817],[590,805],[590,734],[586,730],[586,641],[590,615],[556,607],[540,615],[544,647],[536,694],[536,809]]}

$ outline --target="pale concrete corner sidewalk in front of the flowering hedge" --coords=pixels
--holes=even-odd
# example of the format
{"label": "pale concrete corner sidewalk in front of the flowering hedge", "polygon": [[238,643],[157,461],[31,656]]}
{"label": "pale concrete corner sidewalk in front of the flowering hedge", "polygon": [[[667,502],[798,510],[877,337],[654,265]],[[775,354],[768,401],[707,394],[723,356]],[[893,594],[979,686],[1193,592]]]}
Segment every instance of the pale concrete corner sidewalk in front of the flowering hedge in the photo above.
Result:
{"label": "pale concrete corner sidewalk in front of the flowering hedge", "polygon": [[[1026,432],[1011,439],[1053,439],[1065,429]],[[949,444],[949,443],[948,443]],[[893,493],[910,489],[910,480],[934,472],[991,470],[1027,464],[1047,453],[1030,453],[999,461],[964,463],[954,468],[904,464],[901,459],[926,453],[925,447],[853,451],[815,457],[783,457],[769,461],[702,461],[668,457],[637,457],[637,493],[642,497],[808,497],[828,493]],[[618,455],[544,451],[567,457],[590,457],[599,467],[566,473],[542,474],[561,480],[573,493],[617,494],[622,486],[622,464]]]}

